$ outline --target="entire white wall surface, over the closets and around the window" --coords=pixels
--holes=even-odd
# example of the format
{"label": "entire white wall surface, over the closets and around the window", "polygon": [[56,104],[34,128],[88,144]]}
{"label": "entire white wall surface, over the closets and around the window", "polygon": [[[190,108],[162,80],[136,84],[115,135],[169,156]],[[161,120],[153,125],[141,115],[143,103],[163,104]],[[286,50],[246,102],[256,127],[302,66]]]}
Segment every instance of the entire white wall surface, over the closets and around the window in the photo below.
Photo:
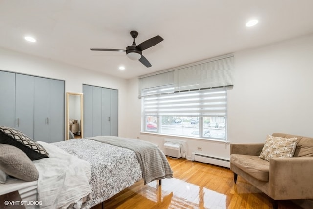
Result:
{"label": "entire white wall surface, over the closets and around the window", "polygon": [[[234,88],[228,91],[228,140],[263,142],[267,134],[313,136],[313,35],[271,46],[235,52]],[[82,84],[119,90],[119,136],[151,141],[187,141],[187,158],[202,152],[229,157],[229,144],[201,139],[143,134],[138,79],[124,79],[0,49],[0,70],[66,81],[66,92],[82,93]]]}

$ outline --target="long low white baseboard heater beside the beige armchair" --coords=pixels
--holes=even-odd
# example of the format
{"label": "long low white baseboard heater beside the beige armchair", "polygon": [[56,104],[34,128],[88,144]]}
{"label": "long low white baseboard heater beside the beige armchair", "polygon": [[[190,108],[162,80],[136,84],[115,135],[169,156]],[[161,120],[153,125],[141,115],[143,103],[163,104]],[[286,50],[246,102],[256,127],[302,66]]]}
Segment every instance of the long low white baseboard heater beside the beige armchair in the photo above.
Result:
{"label": "long low white baseboard heater beside the beige armchair", "polygon": [[202,163],[209,163],[213,165],[219,165],[219,166],[228,167],[228,168],[230,166],[229,159],[210,156],[210,155],[199,153],[199,152],[193,152],[191,154],[191,160],[199,161]]}

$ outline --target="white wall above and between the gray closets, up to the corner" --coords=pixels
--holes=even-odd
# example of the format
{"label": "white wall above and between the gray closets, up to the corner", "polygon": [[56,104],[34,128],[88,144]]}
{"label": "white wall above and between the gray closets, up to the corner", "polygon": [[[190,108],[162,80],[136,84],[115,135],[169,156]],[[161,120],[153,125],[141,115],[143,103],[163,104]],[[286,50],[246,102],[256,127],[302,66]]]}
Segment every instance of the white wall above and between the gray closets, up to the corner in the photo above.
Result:
{"label": "white wall above and between the gray closets, up to the corner", "polygon": [[[127,81],[64,63],[0,48],[0,70],[65,80],[65,91],[83,93],[83,84],[118,89],[118,126],[125,127]],[[2,91],[2,90],[1,90]],[[119,135],[126,136],[123,128]]]}

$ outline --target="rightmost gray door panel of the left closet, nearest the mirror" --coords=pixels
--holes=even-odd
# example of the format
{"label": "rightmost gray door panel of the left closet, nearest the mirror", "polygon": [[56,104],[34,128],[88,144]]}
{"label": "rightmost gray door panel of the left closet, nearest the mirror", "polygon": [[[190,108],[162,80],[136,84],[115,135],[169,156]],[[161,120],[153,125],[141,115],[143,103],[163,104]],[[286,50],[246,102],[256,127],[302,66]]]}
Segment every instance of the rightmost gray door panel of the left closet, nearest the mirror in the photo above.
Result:
{"label": "rightmost gray door panel of the left closet, nearest the mirror", "polygon": [[50,142],[65,140],[65,82],[50,79]]}

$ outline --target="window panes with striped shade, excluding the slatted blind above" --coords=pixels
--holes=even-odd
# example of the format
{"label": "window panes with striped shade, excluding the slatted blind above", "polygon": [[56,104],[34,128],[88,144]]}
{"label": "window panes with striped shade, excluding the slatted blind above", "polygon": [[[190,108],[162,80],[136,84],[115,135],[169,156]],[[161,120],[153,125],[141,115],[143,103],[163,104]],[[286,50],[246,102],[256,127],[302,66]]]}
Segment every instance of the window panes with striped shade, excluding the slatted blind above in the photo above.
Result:
{"label": "window panes with striped shade, excluding the slatted blind above", "polygon": [[226,88],[174,92],[162,86],[142,95],[144,131],[226,140]]}

